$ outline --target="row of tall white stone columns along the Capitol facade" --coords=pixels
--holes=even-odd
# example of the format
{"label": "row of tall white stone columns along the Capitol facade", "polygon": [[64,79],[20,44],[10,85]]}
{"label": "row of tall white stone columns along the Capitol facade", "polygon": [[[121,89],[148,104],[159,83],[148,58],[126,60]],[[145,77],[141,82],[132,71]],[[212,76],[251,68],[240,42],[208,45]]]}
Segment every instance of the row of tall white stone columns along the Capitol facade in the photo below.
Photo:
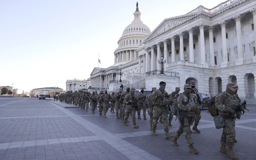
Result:
{"label": "row of tall white stone columns along the Capitol facade", "polygon": [[[253,24],[256,24],[256,9],[253,8]],[[243,64],[243,42],[242,42],[242,32],[241,32],[241,15],[236,15],[233,17],[234,20],[236,20],[236,40],[237,40],[237,55],[238,58],[236,60],[236,65]],[[221,67],[227,67],[228,63],[228,47],[227,47],[227,37],[226,37],[226,26],[227,26],[227,20],[222,21],[217,25],[220,25],[221,27],[221,44],[222,44],[222,59],[221,59]],[[256,26],[256,25],[254,25]],[[204,65],[205,68],[208,67],[208,64],[205,60],[205,35],[204,35],[204,29],[207,27],[207,31],[209,31],[209,54],[210,54],[210,61],[209,63],[211,65],[214,65],[214,41],[213,41],[213,26],[206,26],[204,23],[198,24],[198,26],[195,26],[194,28],[199,28],[199,35],[198,35],[198,43],[199,48],[198,51],[200,52],[200,64]],[[184,34],[186,32],[189,33],[189,62],[195,63],[195,55],[194,55],[194,42],[193,42],[193,31],[195,31],[194,28],[188,28],[187,31],[183,31],[177,35],[170,36],[170,38],[163,40],[163,42],[156,42],[154,45],[150,45],[148,47],[147,44],[145,44],[145,54],[142,56],[145,57],[144,61],[144,72],[150,72],[153,70],[161,70],[161,64],[159,64],[157,61],[161,59],[161,56],[163,56],[164,60],[166,60],[166,63],[174,62],[175,61],[175,38],[179,37],[179,58],[180,61],[184,61]],[[254,37],[256,38],[256,29],[254,29]],[[171,40],[171,51],[172,51],[172,58],[171,61],[169,61],[168,56],[168,46],[167,42],[168,40]],[[161,52],[160,45],[163,44],[163,53]],[[156,54],[155,54],[156,51]]]}

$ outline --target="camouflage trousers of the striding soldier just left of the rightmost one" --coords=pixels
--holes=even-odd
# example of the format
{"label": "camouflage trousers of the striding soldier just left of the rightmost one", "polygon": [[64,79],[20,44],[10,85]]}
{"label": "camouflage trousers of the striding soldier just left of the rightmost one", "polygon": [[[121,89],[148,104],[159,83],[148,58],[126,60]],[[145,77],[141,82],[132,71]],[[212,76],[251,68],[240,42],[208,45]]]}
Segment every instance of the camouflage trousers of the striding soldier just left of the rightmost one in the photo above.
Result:
{"label": "camouflage trousers of the striding soldier just left of the rightmost one", "polygon": [[174,135],[174,138],[179,138],[180,135],[182,134],[182,132],[184,133],[184,136],[185,136],[185,139],[187,140],[187,144],[188,146],[189,145],[193,145],[193,141],[191,139],[191,136],[190,136],[190,123],[191,123],[191,120],[193,119],[193,116],[186,116],[184,118],[184,125],[182,126],[180,124],[180,121],[179,121],[179,129],[175,132],[175,135]]}

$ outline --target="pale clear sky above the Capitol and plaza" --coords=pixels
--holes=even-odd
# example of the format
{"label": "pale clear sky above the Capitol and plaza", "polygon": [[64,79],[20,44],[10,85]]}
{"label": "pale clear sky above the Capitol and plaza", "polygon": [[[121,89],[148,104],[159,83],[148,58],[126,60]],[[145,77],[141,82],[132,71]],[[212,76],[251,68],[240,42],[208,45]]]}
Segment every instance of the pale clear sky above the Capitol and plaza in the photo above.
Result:
{"label": "pale clear sky above the Capitol and plaza", "polygon": [[[141,21],[154,31],[164,19],[223,2],[138,0],[138,7]],[[93,68],[111,67],[136,3],[0,0],[0,86],[13,86],[18,93],[44,87],[65,90],[67,80],[88,79]]]}

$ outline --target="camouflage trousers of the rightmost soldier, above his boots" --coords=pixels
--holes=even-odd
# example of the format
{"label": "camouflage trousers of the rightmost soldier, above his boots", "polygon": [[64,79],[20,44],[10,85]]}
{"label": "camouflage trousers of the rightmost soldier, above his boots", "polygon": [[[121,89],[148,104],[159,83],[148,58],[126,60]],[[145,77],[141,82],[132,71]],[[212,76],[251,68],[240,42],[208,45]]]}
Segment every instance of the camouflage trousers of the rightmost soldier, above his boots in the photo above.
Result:
{"label": "camouflage trousers of the rightmost soldier, above his boots", "polygon": [[226,118],[225,126],[223,127],[220,143],[227,145],[227,147],[234,147],[234,140],[236,138],[235,118]]}

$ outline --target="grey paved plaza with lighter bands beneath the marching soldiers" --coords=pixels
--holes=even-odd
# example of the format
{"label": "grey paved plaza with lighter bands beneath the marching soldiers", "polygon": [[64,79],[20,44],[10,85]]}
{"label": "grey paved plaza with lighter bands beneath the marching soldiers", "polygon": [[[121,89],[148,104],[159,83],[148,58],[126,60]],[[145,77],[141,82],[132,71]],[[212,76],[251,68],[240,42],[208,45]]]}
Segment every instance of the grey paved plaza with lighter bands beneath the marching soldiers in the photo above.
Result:
{"label": "grey paved plaza with lighter bands beneath the marching soldiers", "polygon": [[[256,106],[236,121],[239,159],[256,159]],[[157,124],[152,136],[147,120],[138,120],[138,129],[117,120],[108,111],[107,118],[52,99],[0,97],[0,159],[229,159],[220,153],[222,129],[215,129],[211,115],[202,111],[198,125],[201,133],[191,134],[199,154],[191,154],[184,135],[179,147],[164,138],[163,124]],[[179,123],[173,117],[170,134]]]}

